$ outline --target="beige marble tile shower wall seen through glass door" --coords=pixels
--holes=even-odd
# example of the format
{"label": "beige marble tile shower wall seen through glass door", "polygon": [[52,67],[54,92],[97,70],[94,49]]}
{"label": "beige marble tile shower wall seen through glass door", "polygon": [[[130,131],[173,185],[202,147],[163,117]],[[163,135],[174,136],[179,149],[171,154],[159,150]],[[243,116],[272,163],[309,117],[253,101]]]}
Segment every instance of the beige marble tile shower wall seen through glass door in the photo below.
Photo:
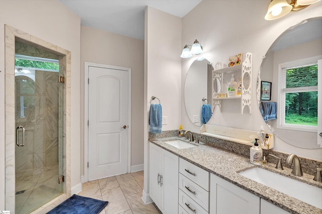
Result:
{"label": "beige marble tile shower wall seen through glass door", "polygon": [[16,147],[17,171],[58,164],[57,80],[58,72],[35,71],[34,93],[23,94],[24,117],[20,115],[21,89],[16,80],[16,125],[26,129],[26,145]]}

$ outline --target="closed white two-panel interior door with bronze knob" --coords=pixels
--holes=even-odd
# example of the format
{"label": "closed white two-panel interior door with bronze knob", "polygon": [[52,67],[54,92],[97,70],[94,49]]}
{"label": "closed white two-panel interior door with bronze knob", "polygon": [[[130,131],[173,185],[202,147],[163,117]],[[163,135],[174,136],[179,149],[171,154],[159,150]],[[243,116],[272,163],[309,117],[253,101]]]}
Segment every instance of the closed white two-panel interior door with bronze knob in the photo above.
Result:
{"label": "closed white two-panel interior door with bronze knob", "polygon": [[88,179],[128,169],[127,70],[89,66]]}

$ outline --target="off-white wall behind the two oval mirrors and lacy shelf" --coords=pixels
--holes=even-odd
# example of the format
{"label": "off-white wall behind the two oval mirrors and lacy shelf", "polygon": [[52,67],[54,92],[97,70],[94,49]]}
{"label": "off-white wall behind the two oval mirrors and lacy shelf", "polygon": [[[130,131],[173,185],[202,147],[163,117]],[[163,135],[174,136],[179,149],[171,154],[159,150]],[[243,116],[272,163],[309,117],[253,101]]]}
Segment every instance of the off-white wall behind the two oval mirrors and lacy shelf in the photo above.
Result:
{"label": "off-white wall behind the two oval mirrors and lacy shelf", "polygon": [[[238,53],[253,53],[252,114],[241,115],[237,100],[222,102],[222,112],[216,108],[208,124],[229,126],[249,130],[259,130],[265,125],[257,105],[256,79],[262,63],[262,57],[277,37],[291,25],[311,17],[322,16],[322,2],[306,9],[290,13],[285,17],[266,21],[264,16],[270,1],[218,0],[202,1],[182,20],[182,47],[195,39],[203,46],[202,56],[209,62],[228,63],[229,56]],[[178,52],[178,56],[181,52]],[[182,87],[186,72],[192,59],[182,60]],[[182,102],[183,96],[181,96]],[[228,105],[229,104],[229,105]],[[182,105],[182,124],[184,129],[199,132],[200,127],[189,120]],[[269,131],[268,129],[266,131]],[[275,150],[296,153],[297,155],[319,159],[322,149],[301,149],[275,138]]]}

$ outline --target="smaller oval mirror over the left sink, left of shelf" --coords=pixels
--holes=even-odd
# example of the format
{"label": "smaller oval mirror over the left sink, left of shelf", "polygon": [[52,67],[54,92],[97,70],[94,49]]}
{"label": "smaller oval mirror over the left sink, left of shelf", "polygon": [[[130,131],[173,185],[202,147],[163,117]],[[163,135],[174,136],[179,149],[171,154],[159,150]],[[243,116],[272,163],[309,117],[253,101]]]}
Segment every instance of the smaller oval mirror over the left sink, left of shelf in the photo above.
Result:
{"label": "smaller oval mirror over the left sink, left of shelf", "polygon": [[[186,76],[184,88],[185,107],[189,119],[197,126],[203,124],[201,122],[201,109],[203,104],[210,104],[211,102],[212,85],[220,88],[216,81],[214,83],[211,81],[212,70],[212,65],[208,60],[195,60]],[[203,99],[206,100],[203,101]]]}

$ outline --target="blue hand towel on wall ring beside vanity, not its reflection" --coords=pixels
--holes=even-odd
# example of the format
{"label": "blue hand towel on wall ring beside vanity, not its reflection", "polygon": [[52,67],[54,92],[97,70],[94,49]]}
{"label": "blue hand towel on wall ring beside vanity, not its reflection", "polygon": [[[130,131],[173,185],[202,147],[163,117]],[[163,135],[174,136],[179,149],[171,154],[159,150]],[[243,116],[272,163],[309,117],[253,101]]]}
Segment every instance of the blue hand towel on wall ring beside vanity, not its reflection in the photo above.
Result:
{"label": "blue hand towel on wall ring beside vanity, not its reflection", "polygon": [[151,104],[149,114],[150,132],[154,134],[162,133],[162,106],[161,104]]}

